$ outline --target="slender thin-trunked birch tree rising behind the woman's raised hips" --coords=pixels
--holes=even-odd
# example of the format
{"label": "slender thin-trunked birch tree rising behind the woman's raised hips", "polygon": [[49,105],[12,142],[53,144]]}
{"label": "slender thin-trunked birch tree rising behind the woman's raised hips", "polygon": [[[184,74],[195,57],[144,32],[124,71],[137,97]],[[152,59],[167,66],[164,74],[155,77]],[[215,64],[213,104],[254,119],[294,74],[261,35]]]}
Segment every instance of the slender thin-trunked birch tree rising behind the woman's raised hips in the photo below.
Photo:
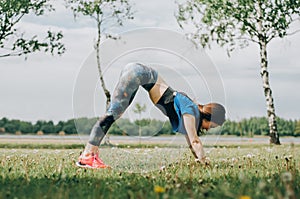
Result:
{"label": "slender thin-trunked birch tree rising behind the woman's raised hips", "polygon": [[131,6],[128,0],[66,0],[66,2],[73,11],[75,18],[81,14],[90,17],[96,22],[97,38],[94,49],[96,50],[100,83],[106,96],[106,107],[108,107],[111,94],[106,88],[103,78],[100,44],[104,38],[117,39],[109,30],[112,27],[122,26],[127,19],[133,19]]}

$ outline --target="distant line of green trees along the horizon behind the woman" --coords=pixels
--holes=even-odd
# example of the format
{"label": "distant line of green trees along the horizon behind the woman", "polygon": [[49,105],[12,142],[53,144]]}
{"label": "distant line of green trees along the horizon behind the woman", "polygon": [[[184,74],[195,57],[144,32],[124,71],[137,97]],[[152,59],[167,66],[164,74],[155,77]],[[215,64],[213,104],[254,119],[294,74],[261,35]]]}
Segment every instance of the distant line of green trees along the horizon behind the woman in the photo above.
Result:
{"label": "distant line of green trees along the horizon behind the woman", "polygon": [[[89,134],[96,118],[79,118],[68,121],[60,121],[54,123],[53,121],[39,120],[35,123],[9,120],[2,118],[0,120],[0,133],[10,134]],[[300,120],[284,120],[277,119],[278,131],[281,136],[300,136]],[[241,121],[226,121],[220,131],[210,131],[209,134],[222,135],[237,135],[248,136],[254,135],[268,135],[269,127],[268,121],[265,117],[252,117],[250,119],[243,119]],[[172,128],[170,123],[155,120],[142,119],[131,122],[129,119],[119,119],[115,122],[109,130],[112,135],[131,135],[137,136],[141,132],[142,136],[153,135],[172,135]]]}

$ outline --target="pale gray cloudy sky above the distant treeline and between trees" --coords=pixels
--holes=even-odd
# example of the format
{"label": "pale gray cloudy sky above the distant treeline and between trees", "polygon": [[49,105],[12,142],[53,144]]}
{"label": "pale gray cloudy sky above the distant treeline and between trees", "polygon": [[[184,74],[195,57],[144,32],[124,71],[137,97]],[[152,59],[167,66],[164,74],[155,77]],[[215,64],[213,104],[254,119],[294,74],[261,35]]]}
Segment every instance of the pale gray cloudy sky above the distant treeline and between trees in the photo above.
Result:
{"label": "pale gray cloudy sky above the distant treeline and between trees", "polygon": [[[235,50],[230,57],[217,45],[195,50],[180,37],[189,30],[179,28],[173,0],[131,2],[134,20],[112,29],[114,34],[121,35],[121,40],[102,44],[109,90],[113,90],[124,65],[143,62],[156,68],[173,88],[187,92],[199,103],[212,100],[224,104],[228,119],[266,116],[258,46],[250,44],[245,49]],[[97,82],[93,52],[95,24],[88,17],[74,20],[62,1],[54,1],[54,6],[56,11],[45,16],[25,17],[18,28],[28,35],[43,35],[48,29],[61,30],[67,51],[54,57],[35,53],[27,60],[24,57],[1,58],[0,118],[60,121],[104,113],[105,99]],[[299,29],[300,24],[292,28]],[[121,51],[125,40],[127,53]],[[155,48],[140,48],[147,42],[152,42]],[[300,119],[297,104],[300,101],[299,46],[300,34],[295,34],[275,39],[268,47],[275,110],[285,119]],[[162,118],[144,91],[138,92],[135,102],[147,104],[145,117]],[[124,115],[137,117],[133,107]]]}

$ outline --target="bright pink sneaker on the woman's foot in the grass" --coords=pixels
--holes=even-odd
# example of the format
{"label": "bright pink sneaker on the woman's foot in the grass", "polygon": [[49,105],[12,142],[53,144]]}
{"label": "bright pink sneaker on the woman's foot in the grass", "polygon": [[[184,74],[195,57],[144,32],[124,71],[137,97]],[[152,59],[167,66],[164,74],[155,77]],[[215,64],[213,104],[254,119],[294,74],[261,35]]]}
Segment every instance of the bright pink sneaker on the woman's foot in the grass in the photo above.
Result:
{"label": "bright pink sneaker on the woman's foot in the grass", "polygon": [[98,154],[81,154],[76,165],[83,168],[99,169],[110,168],[98,157]]}

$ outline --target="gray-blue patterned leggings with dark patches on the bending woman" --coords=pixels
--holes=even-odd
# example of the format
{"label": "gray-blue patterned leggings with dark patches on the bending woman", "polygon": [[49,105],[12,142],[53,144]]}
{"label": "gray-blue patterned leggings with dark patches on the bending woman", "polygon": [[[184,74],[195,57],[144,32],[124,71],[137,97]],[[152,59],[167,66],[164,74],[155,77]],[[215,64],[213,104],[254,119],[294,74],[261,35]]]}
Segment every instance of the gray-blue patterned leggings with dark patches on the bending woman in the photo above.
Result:
{"label": "gray-blue patterned leggings with dark patches on the bending woman", "polygon": [[139,86],[149,92],[157,77],[157,71],[148,66],[139,63],[126,65],[121,71],[106,114],[96,122],[90,133],[89,143],[99,146],[110,126],[121,117],[132,102]]}

